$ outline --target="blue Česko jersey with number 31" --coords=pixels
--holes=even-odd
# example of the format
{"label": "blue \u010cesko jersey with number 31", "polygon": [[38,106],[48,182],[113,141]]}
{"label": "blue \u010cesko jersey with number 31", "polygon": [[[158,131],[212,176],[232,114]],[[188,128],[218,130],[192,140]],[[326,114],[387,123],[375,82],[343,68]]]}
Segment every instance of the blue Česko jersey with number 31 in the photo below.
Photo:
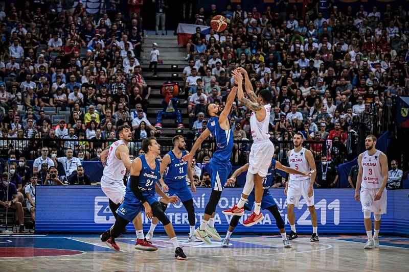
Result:
{"label": "blue \u010cesko jersey with number 31", "polygon": [[170,163],[164,177],[164,182],[168,186],[179,187],[175,185],[186,185],[186,176],[188,175],[188,162],[182,161],[183,156],[187,154],[186,150],[182,151],[180,159],[176,158],[172,151],[168,152]]}

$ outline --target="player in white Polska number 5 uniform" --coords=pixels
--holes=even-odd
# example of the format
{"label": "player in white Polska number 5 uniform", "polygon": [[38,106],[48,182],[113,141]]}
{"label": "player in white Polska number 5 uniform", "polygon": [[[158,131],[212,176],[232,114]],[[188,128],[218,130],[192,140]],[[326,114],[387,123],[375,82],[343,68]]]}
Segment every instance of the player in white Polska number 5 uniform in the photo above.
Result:
{"label": "player in white Polska number 5 uniform", "polygon": [[317,218],[314,206],[314,181],[315,181],[315,161],[312,152],[305,149],[302,145],[304,136],[300,132],[294,134],[292,138],[294,149],[288,151],[288,163],[290,168],[299,170],[301,172],[311,172],[311,177],[291,174],[285,186],[284,193],[287,195],[287,214],[288,221],[291,226],[291,233],[288,240],[293,240],[298,237],[296,230],[296,215],[294,214],[294,207],[298,207],[298,203],[303,197],[305,204],[311,214],[312,236],[311,242],[318,242],[318,227]]}

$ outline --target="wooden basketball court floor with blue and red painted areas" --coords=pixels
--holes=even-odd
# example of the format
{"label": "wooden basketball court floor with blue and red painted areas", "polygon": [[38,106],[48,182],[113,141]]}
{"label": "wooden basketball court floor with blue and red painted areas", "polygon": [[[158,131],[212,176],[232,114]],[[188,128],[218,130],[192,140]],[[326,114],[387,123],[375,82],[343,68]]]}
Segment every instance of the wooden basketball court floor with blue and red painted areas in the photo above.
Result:
{"label": "wooden basketball court floor with blue and red painted areas", "polygon": [[409,238],[381,236],[380,248],[363,250],[364,236],[301,235],[284,249],[277,236],[232,235],[229,248],[188,242],[178,235],[187,260],[174,259],[169,239],[156,235],[156,252],[133,249],[135,237],[116,241],[114,252],[98,235],[0,235],[0,271],[407,271]]}

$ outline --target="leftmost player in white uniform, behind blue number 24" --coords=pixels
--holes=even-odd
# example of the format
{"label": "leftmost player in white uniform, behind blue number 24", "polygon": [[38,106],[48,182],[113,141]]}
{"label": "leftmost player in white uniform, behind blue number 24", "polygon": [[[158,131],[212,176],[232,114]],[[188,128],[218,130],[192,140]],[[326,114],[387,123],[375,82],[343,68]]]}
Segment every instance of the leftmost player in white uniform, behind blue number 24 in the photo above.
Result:
{"label": "leftmost player in white uniform, behind blue number 24", "polygon": [[[123,203],[125,197],[126,187],[123,178],[126,169],[130,169],[131,167],[127,145],[132,140],[132,132],[128,125],[120,126],[117,133],[119,140],[113,142],[108,149],[104,150],[100,155],[102,165],[104,165],[101,189],[105,195],[108,196],[109,208],[115,218],[117,218],[116,211]],[[137,233],[137,245],[135,245],[135,249],[156,251],[156,246],[144,240],[141,215],[138,214],[132,222]],[[124,227],[124,231],[126,232],[126,226]]]}

